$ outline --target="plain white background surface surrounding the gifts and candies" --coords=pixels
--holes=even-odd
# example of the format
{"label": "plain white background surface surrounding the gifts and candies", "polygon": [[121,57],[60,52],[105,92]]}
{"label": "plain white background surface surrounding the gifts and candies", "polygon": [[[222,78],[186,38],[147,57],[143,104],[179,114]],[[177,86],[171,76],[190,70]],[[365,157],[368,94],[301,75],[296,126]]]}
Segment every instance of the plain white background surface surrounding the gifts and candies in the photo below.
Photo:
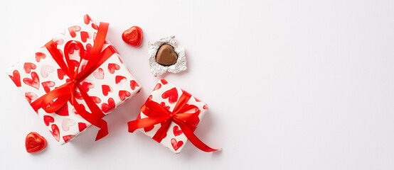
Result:
{"label": "plain white background surface surrounding the gifts and candies", "polygon": [[[92,127],[59,146],[0,74],[0,169],[394,169],[394,1],[2,1],[1,72],[85,13],[110,23],[142,93],[105,117],[107,137]],[[131,26],[141,47],[122,41]],[[208,103],[196,135],[221,152],[127,132],[159,80],[148,41],[168,35],[188,69],[163,77]],[[26,152],[31,131],[43,152]]]}

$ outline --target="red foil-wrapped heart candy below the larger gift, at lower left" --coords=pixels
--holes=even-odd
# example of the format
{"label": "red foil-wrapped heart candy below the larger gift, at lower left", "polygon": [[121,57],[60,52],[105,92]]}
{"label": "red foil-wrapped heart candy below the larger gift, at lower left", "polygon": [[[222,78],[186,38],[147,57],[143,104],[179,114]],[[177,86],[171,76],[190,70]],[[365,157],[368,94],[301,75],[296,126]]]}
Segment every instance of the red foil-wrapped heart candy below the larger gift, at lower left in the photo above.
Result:
{"label": "red foil-wrapped heart candy below the larger gift, at lower left", "polygon": [[46,139],[37,132],[30,132],[26,136],[25,146],[28,153],[36,153],[46,147]]}

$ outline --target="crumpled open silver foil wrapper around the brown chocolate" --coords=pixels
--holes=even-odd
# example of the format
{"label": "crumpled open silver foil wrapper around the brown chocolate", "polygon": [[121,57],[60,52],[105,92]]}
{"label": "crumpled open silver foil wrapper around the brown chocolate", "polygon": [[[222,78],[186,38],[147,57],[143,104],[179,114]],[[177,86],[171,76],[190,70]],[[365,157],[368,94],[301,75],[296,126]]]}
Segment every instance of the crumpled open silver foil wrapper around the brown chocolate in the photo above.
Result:
{"label": "crumpled open silver foil wrapper around the brown chocolate", "polygon": [[[174,52],[178,55],[178,59],[175,64],[164,66],[156,62],[157,50],[161,45],[168,44],[174,47]],[[169,36],[167,38],[161,38],[160,40],[151,43],[149,42],[148,49],[149,65],[151,66],[151,72],[154,76],[159,76],[165,72],[179,73],[186,70],[186,56],[185,49],[181,46],[175,46],[175,36]]]}

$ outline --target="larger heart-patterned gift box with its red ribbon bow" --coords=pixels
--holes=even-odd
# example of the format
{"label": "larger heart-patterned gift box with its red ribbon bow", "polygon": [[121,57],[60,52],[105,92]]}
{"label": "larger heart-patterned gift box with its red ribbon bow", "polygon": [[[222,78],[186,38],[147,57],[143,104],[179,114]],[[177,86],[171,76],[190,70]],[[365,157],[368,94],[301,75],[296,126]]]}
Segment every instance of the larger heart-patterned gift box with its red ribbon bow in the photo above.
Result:
{"label": "larger heart-patterned gift box with its red ribbon bow", "polygon": [[62,145],[90,125],[100,128],[96,140],[107,135],[102,117],[141,89],[107,29],[85,15],[7,71]]}

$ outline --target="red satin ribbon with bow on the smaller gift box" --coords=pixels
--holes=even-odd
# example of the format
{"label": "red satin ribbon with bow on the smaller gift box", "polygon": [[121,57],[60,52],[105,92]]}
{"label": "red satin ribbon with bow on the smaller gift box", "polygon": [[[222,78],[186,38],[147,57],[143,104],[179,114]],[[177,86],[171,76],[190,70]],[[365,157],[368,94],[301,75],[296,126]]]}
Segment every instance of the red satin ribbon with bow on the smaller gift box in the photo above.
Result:
{"label": "red satin ribbon with bow on the smaller gift box", "polygon": [[[190,98],[191,94],[183,91],[183,94],[179,98],[179,101],[176,103],[172,112],[148,98],[147,102],[145,102],[144,106],[141,108],[142,113],[147,115],[148,118],[133,120],[127,123],[129,126],[129,132],[134,132],[134,130],[139,128],[147,128],[161,123],[161,127],[157,130],[154,137],[152,137],[152,139],[157,142],[161,142],[161,140],[166,137],[169,125],[171,122],[174,122],[176,125],[179,125],[183,134],[185,134],[188,140],[190,140],[190,142],[198,149],[201,149],[204,152],[217,151],[218,149],[208,147],[208,145],[204,144],[200,139],[198,139],[198,137],[196,137],[196,135],[194,135],[193,132],[196,130],[196,123],[193,123],[193,120],[196,120],[196,118],[198,119],[200,110],[197,106],[187,104]],[[191,110],[194,110],[194,112],[186,113]]]}

